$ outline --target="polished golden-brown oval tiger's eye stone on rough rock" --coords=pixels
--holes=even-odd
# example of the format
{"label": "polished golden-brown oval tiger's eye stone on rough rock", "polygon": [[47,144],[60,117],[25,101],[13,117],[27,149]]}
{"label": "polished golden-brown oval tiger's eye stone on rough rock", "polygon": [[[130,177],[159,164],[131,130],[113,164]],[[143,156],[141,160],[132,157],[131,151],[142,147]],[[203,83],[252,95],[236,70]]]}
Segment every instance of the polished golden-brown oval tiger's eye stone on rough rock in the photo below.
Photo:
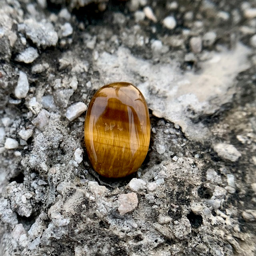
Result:
{"label": "polished golden-brown oval tiger's eye stone on rough rock", "polygon": [[142,93],[125,82],[100,88],[88,106],[84,139],[89,160],[102,176],[119,178],[136,172],[150,142],[148,106]]}

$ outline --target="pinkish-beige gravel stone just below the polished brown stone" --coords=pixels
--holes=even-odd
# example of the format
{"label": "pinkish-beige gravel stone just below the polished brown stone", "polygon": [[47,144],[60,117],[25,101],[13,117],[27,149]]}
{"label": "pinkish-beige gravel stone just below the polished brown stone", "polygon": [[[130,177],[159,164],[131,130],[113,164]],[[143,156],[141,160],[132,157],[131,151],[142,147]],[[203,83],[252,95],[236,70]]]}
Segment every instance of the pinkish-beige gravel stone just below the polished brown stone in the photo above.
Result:
{"label": "pinkish-beige gravel stone just below the polished brown stone", "polygon": [[138,196],[131,192],[128,194],[120,194],[118,197],[118,211],[121,216],[127,212],[132,212],[138,206]]}

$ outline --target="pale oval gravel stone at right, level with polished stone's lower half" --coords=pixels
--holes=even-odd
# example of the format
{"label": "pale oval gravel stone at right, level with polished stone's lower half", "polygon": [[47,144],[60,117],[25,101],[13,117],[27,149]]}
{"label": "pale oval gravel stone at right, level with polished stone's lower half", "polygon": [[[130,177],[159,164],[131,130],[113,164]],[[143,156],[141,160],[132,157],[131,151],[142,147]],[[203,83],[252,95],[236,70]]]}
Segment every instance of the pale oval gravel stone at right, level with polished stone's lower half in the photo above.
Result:
{"label": "pale oval gravel stone at right, level with polished stone's lower half", "polygon": [[232,162],[236,162],[240,158],[241,153],[231,144],[218,143],[213,146],[218,156]]}

